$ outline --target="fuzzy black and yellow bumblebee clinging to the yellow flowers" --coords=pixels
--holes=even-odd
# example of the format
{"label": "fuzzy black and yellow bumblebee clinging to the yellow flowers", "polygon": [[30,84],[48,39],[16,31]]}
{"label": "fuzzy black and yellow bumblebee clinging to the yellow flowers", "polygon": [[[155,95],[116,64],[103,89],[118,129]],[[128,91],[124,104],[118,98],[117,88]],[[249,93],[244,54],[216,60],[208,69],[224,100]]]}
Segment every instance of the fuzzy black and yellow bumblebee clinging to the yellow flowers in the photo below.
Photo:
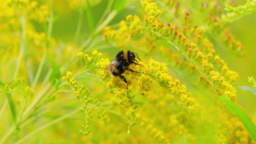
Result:
{"label": "fuzzy black and yellow bumblebee clinging to the yellow flowers", "polygon": [[[135,58],[139,59],[137,53],[131,52],[129,50],[123,50],[118,52],[117,56],[115,56],[115,59],[108,65],[109,75],[119,76],[121,79],[123,79],[127,84],[127,89],[127,80],[121,74],[123,74],[126,70],[138,73],[137,71],[129,68],[130,64],[138,64],[138,61],[136,61]],[[139,61],[141,61],[141,59],[139,59]]]}

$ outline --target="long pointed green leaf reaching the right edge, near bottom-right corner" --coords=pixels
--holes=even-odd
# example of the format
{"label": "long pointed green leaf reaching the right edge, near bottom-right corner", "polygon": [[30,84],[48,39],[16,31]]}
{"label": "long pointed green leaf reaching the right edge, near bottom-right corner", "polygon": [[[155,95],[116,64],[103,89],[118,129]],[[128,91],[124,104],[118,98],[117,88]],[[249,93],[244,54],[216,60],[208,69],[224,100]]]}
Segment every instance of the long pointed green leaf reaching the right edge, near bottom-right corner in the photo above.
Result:
{"label": "long pointed green leaf reaching the right edge, near bottom-right corner", "polygon": [[218,98],[222,100],[226,107],[240,119],[240,121],[243,123],[243,126],[245,126],[246,130],[248,131],[249,135],[251,135],[252,139],[256,142],[256,127],[253,124],[252,120],[246,115],[246,113],[231,100],[228,100],[224,97]]}

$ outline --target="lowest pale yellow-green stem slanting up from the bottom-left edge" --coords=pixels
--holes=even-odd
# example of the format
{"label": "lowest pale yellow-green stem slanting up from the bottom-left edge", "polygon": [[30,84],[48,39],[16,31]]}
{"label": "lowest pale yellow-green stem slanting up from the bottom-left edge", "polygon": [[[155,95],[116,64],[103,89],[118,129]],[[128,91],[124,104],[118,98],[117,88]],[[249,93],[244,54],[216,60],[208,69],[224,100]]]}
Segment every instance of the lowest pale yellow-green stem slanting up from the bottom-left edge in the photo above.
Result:
{"label": "lowest pale yellow-green stem slanting up from the bottom-left edge", "polygon": [[56,118],[54,121],[51,121],[50,123],[45,124],[45,125],[43,125],[42,127],[40,127],[40,128],[38,128],[38,129],[32,131],[30,134],[28,134],[28,135],[22,137],[22,139],[20,139],[19,141],[15,142],[15,144],[24,142],[26,139],[30,138],[31,136],[36,135],[37,133],[39,133],[40,131],[42,131],[42,130],[48,128],[48,127],[50,127],[51,125],[54,125],[54,124],[56,124],[56,123],[58,123],[58,122],[63,121],[63,119],[66,119],[66,118],[68,118],[68,117],[74,115],[75,113],[77,113],[77,112],[79,112],[79,111],[80,111],[80,109],[77,109],[77,110],[74,110],[74,111],[72,111],[72,112],[67,113],[67,114],[64,115],[64,116],[61,116],[61,117],[59,117],[59,118]]}

